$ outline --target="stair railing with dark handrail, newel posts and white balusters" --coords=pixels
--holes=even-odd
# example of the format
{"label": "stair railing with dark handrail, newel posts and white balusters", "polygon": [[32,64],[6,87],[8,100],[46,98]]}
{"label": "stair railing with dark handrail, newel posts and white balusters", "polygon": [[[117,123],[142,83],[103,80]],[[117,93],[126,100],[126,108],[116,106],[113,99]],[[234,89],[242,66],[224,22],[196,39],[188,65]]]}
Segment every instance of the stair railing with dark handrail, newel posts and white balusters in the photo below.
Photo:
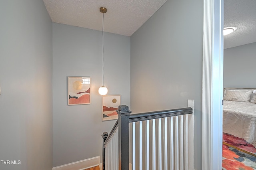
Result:
{"label": "stair railing with dark handrail, newel posts and white balusters", "polygon": [[102,170],[194,169],[193,108],[188,100],[186,108],[131,114],[120,105],[110,134],[102,134]]}

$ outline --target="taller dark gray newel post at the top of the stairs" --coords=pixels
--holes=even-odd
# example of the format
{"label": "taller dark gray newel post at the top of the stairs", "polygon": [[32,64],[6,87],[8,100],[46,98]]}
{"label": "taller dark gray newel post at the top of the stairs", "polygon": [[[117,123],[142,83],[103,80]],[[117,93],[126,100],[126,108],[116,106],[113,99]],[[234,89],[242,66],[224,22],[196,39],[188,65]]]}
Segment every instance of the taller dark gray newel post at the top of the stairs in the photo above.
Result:
{"label": "taller dark gray newel post at the top of the stairs", "polygon": [[129,116],[132,113],[126,105],[118,110],[118,169],[129,170]]}

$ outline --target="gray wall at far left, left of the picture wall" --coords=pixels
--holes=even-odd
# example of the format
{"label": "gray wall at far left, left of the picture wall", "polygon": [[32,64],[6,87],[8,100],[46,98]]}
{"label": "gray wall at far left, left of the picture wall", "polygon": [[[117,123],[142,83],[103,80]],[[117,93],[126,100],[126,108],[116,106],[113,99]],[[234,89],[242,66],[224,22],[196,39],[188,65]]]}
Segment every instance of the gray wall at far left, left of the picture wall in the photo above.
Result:
{"label": "gray wall at far left, left of the picture wall", "polygon": [[51,170],[52,21],[42,0],[1,0],[0,23],[0,160],[20,160],[0,169]]}

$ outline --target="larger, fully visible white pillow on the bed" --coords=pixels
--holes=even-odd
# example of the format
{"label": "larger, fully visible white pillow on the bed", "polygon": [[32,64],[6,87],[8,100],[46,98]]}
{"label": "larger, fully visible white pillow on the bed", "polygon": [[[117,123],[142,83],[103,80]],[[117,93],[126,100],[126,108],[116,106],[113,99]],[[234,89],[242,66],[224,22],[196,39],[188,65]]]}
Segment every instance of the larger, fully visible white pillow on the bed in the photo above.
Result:
{"label": "larger, fully visible white pillow on the bed", "polygon": [[223,100],[250,102],[253,90],[225,90]]}

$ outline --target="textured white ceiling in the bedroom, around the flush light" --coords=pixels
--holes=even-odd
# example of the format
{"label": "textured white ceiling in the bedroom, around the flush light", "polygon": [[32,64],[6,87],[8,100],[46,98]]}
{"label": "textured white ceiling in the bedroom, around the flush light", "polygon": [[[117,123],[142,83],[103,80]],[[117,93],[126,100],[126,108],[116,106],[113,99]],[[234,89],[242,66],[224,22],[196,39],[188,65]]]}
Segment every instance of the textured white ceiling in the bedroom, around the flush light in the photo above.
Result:
{"label": "textured white ceiling in the bedroom, around the flush light", "polygon": [[224,28],[236,27],[224,36],[224,49],[256,42],[256,0],[224,0]]}

